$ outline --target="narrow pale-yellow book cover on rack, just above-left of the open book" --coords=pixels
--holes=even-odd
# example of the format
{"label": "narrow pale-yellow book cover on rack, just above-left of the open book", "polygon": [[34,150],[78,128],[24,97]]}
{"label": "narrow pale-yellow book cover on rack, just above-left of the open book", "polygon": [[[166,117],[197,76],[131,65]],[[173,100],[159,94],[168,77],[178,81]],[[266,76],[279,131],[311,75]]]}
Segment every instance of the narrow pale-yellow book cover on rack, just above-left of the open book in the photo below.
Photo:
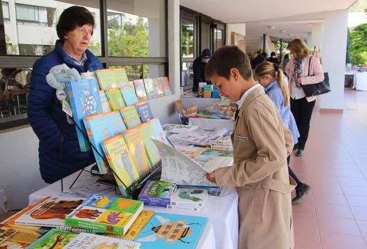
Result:
{"label": "narrow pale-yellow book cover on rack, just above-left of the open book", "polygon": [[161,160],[161,156],[159,155],[159,151],[154,145],[152,139],[156,139],[154,131],[150,123],[145,122],[140,125],[141,133],[143,134],[145,151],[147,152],[147,158],[149,159],[150,168],[153,169],[155,165],[159,163]]}

